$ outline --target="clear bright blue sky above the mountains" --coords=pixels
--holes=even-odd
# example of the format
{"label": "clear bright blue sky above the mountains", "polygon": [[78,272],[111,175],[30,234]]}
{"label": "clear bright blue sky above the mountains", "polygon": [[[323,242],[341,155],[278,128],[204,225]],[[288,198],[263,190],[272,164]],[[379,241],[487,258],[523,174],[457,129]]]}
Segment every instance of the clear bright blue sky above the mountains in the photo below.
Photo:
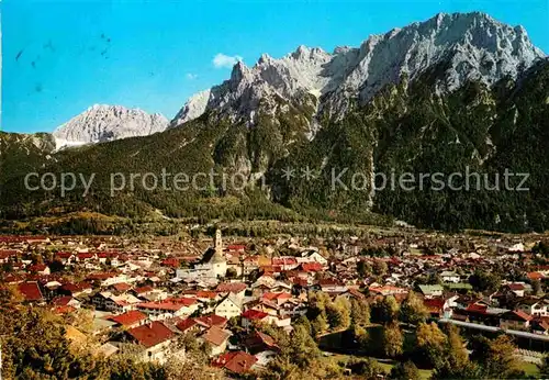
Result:
{"label": "clear bright blue sky above the mountains", "polygon": [[189,96],[229,76],[223,66],[229,57],[253,65],[261,53],[281,57],[300,44],[329,52],[358,46],[370,34],[438,12],[484,11],[522,24],[548,53],[548,4],[3,0],[2,130],[51,132],[94,103],[137,107],[171,119]]}

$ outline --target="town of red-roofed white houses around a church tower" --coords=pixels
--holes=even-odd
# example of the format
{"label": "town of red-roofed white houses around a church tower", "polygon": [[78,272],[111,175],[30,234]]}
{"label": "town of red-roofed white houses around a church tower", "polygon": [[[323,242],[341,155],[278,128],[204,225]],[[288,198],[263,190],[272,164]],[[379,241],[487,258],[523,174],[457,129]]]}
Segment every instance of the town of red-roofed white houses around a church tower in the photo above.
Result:
{"label": "town of red-roofed white houses around a church tower", "polygon": [[[533,244],[460,242],[435,252],[417,238],[379,237],[368,246],[358,238],[316,246],[289,238],[259,249],[224,245],[217,231],[213,246],[197,255],[164,243],[144,249],[102,237],[0,236],[0,275],[21,302],[88,314],[85,333],[105,356],[132,346],[142,360],[164,362],[184,357],[178,342],[191,335],[208,345],[212,366],[234,373],[277,356],[274,339],[256,327],[291,332],[311,291],[370,303],[385,297],[401,303],[414,291],[434,320],[549,340],[542,292],[549,266]],[[482,273],[496,283],[483,289]],[[85,334],[75,327],[67,334]]]}

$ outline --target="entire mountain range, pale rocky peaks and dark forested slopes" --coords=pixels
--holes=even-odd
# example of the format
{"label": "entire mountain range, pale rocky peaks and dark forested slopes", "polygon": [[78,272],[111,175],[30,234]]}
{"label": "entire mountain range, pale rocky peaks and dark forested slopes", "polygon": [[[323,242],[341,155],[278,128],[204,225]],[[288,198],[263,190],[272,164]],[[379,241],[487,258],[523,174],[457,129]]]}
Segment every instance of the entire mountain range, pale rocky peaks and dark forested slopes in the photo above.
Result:
{"label": "entire mountain range, pale rocky peaks and dark forested slopes", "polygon": [[[333,53],[300,46],[237,63],[168,122],[96,105],[53,136],[0,135],[0,216],[97,210],[173,217],[399,219],[422,227],[531,231],[549,221],[549,64],[522,26],[483,13],[437,14]],[[159,133],[156,133],[159,132]],[[141,136],[141,137],[134,137]],[[132,138],[126,138],[132,137]],[[59,149],[67,145],[86,146]],[[314,178],[284,178],[310,168]],[[81,199],[29,192],[22,175],[94,172]],[[110,172],[238,174],[244,190],[147,191],[111,198]],[[373,191],[376,172],[529,174],[529,191]],[[333,170],[361,191],[332,189]],[[262,187],[258,187],[261,181]],[[351,179],[343,178],[350,186]],[[428,186],[426,186],[428,188]]]}

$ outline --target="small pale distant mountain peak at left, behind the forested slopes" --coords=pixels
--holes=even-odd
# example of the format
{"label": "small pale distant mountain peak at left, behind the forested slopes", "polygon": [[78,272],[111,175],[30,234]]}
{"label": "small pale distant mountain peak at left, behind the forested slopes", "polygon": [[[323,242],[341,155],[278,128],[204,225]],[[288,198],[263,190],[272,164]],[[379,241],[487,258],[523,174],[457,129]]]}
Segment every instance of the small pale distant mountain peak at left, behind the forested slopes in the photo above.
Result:
{"label": "small pale distant mountain peak at left, behind the forested slopes", "polygon": [[146,136],[166,130],[168,120],[139,109],[96,104],[60,125],[55,132],[57,147],[102,143]]}

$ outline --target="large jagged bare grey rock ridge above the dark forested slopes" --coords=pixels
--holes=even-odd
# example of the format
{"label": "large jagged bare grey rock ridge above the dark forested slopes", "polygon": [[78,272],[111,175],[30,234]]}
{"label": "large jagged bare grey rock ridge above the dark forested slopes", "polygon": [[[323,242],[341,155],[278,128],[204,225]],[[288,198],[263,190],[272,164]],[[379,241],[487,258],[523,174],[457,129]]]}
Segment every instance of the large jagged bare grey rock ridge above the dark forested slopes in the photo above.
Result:
{"label": "large jagged bare grey rock ridge above the dark forested slopes", "polygon": [[238,62],[228,80],[191,97],[171,125],[205,111],[254,123],[259,112],[276,114],[281,100],[311,105],[313,115],[338,119],[384,86],[403,77],[413,80],[435,67],[436,89],[444,92],[471,79],[493,85],[505,76],[515,78],[544,56],[522,26],[479,12],[439,13],[372,35],[358,48],[337,47],[329,54],[300,46],[280,59],[264,54],[253,67]]}

